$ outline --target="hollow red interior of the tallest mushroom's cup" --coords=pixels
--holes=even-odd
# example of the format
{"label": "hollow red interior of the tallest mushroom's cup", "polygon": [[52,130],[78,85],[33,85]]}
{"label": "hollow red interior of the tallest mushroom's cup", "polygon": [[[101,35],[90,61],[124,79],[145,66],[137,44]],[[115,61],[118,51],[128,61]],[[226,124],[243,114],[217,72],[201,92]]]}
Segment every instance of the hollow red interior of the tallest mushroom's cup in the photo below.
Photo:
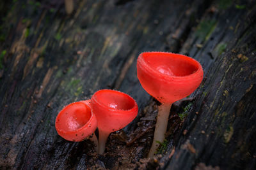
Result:
{"label": "hollow red interior of the tallest mushroom's cup", "polygon": [[[169,55],[169,54],[167,54]],[[198,64],[185,56],[166,56],[165,53],[143,53],[143,58],[150,67],[170,76],[188,76],[198,70]]]}

